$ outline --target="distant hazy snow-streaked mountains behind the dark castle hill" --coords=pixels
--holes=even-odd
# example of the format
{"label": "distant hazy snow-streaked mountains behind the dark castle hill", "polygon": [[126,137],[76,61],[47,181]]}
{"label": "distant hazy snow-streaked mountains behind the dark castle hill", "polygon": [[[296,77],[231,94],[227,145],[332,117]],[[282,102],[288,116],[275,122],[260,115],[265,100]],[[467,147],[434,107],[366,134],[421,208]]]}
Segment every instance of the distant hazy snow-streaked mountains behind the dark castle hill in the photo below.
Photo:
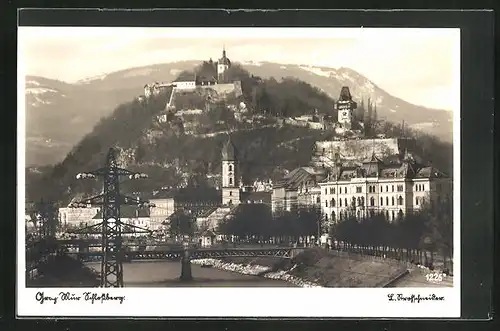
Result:
{"label": "distant hazy snow-streaked mountains behind the dark castle hill", "polygon": [[[26,165],[54,164],[90,132],[94,125],[124,102],[144,94],[144,85],[174,80],[200,61],[149,65],[67,83],[38,76],[26,77]],[[349,68],[245,62],[241,65],[262,78],[294,77],[337,98],[348,86],[358,101],[371,98],[379,119],[407,125],[452,140],[452,112],[408,103]],[[332,105],[333,106],[333,105]]]}

